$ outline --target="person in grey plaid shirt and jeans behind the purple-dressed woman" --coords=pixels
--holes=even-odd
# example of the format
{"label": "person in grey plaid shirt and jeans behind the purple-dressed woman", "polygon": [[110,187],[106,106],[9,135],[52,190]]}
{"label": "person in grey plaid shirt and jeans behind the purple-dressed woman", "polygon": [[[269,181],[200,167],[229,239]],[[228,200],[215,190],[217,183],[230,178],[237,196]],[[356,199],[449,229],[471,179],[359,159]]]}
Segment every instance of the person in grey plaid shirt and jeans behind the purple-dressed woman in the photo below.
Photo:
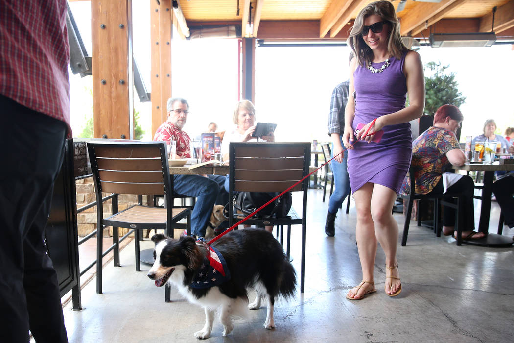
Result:
{"label": "person in grey plaid shirt and jeans behind the purple-dressed woman", "polygon": [[[353,53],[350,53],[348,62],[352,61]],[[350,81],[344,81],[338,84],[332,92],[330,102],[330,113],[328,115],[328,135],[332,137],[331,158],[343,151],[343,132],[344,132],[344,107],[348,102],[348,86]],[[335,221],[337,210],[341,207],[344,198],[350,193],[350,178],[346,171],[346,157],[339,155],[332,160],[330,168],[332,169],[335,190],[328,201],[328,213],[326,215],[325,233],[329,237],[336,234]]]}

